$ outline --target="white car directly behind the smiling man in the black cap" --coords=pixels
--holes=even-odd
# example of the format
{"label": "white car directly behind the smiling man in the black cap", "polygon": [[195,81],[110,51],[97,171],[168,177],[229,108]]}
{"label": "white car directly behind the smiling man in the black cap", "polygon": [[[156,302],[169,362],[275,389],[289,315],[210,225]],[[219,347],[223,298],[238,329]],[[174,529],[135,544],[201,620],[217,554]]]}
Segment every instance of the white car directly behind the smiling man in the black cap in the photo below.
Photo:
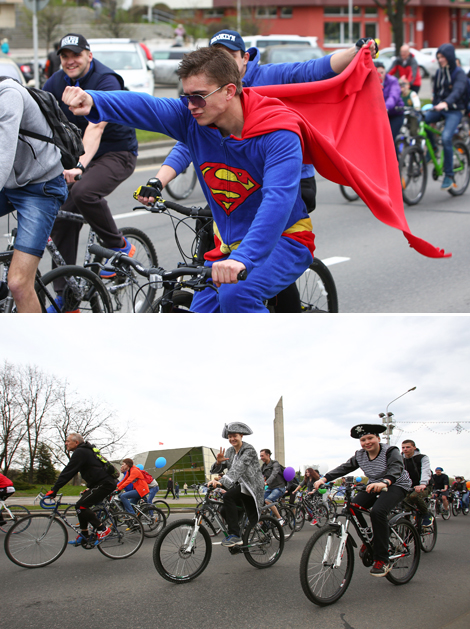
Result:
{"label": "white car directly behind the smiling man in the black cap", "polygon": [[93,56],[122,76],[131,92],[153,96],[155,82],[141,45],[130,39],[89,39]]}

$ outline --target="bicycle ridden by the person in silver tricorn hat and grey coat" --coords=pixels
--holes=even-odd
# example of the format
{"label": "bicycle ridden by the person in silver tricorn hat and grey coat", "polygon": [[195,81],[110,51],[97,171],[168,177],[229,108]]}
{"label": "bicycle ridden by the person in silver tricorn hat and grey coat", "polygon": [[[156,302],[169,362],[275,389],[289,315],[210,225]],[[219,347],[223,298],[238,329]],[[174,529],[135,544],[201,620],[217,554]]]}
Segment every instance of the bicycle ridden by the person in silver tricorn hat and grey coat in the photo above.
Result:
{"label": "bicycle ridden by the person in silver tricorn hat and grey coat", "polygon": [[[209,530],[215,531],[211,518],[228,537],[227,525],[219,513],[220,500],[214,500],[211,494],[212,489],[208,488],[192,520],[172,522],[155,540],[153,562],[157,572],[167,581],[188,583],[207,568],[212,555]],[[284,532],[279,521],[262,515],[255,524],[249,524],[243,513],[240,525],[243,545],[231,546],[229,552],[244,555],[255,568],[274,565],[284,550]]]}

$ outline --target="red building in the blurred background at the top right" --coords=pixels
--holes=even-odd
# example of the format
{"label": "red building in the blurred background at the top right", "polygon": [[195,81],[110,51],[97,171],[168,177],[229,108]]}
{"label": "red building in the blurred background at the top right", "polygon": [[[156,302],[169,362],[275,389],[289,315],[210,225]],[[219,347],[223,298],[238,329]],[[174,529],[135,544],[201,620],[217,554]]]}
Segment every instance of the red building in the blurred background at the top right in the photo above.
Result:
{"label": "red building in the blurred background at the top right", "polygon": [[[241,6],[243,19],[255,22],[263,35],[316,36],[325,49],[350,45],[345,0],[257,0],[256,6],[241,0]],[[213,0],[212,9],[202,10],[205,22],[220,22],[235,13],[233,0]],[[373,0],[357,0],[352,13],[352,41],[374,37],[380,40],[381,48],[391,45],[388,17]],[[468,45],[470,1],[411,0],[405,7],[403,30],[404,41],[418,49],[445,42]]]}

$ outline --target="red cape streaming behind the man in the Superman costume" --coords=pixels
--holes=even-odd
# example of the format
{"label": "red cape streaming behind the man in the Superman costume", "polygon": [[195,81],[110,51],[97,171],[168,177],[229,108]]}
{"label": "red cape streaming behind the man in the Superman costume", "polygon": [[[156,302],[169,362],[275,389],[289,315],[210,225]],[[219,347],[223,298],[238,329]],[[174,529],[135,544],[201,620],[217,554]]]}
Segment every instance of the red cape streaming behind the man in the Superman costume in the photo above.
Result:
{"label": "red cape streaming behind the man in the Superman costume", "polygon": [[306,164],[353,188],[376,218],[400,229],[422,255],[451,255],[413,236],[406,222],[395,146],[369,49],[333,79],[245,88],[242,102],[243,139],[278,129],[297,133]]}

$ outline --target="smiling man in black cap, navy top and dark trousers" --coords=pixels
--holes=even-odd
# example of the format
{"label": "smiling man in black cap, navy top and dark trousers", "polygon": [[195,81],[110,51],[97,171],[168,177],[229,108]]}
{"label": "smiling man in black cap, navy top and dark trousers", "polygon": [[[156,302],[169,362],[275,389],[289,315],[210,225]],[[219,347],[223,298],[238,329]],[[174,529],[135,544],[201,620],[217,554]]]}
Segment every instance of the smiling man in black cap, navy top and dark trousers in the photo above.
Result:
{"label": "smiling man in black cap, navy top and dark trousers", "polygon": [[[124,90],[124,81],[114,70],[93,58],[83,35],[69,33],[63,37],[57,54],[62,69],[46,81],[43,89],[54,94],[67,118],[82,130],[85,147],[77,166],[64,172],[70,192],[62,210],[82,214],[106,247],[132,256],[135,247],[116,226],[105,197],[134,172],[137,163],[135,129],[107,122],[93,124],[82,116],[75,116],[62,102],[67,86],[97,91]],[[78,176],[81,179],[75,181]],[[52,239],[67,264],[76,263],[81,226],[76,221],[58,219],[52,230]],[[101,272],[102,277],[113,275]]]}

